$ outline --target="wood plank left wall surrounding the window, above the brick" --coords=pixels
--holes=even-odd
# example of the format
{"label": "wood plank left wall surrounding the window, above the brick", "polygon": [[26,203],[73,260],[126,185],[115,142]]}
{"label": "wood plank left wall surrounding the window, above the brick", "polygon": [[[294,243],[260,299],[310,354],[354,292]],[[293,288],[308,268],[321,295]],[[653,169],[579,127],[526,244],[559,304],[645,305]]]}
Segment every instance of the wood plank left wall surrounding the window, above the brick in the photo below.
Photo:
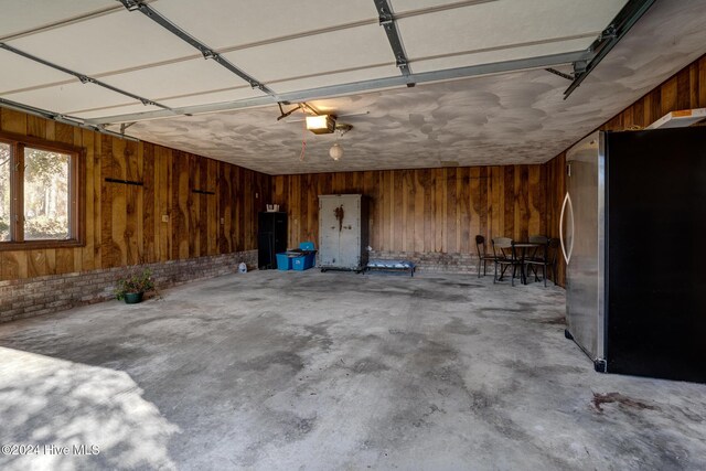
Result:
{"label": "wood plank left wall surrounding the window, above the brick", "polygon": [[[0,280],[257,248],[257,212],[270,193],[269,175],[7,108],[0,108],[0,130],[86,149],[86,245],[0,250]],[[107,183],[106,178],[145,184]]]}

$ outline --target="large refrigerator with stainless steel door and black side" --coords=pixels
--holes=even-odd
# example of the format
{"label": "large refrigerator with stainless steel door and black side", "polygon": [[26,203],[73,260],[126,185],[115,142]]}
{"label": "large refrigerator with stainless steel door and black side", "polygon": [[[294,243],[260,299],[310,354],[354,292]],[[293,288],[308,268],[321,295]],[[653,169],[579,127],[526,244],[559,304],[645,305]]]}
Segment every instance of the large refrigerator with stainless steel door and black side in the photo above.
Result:
{"label": "large refrigerator with stainless steel door and black side", "polygon": [[706,383],[706,127],[567,152],[566,336],[599,372]]}

